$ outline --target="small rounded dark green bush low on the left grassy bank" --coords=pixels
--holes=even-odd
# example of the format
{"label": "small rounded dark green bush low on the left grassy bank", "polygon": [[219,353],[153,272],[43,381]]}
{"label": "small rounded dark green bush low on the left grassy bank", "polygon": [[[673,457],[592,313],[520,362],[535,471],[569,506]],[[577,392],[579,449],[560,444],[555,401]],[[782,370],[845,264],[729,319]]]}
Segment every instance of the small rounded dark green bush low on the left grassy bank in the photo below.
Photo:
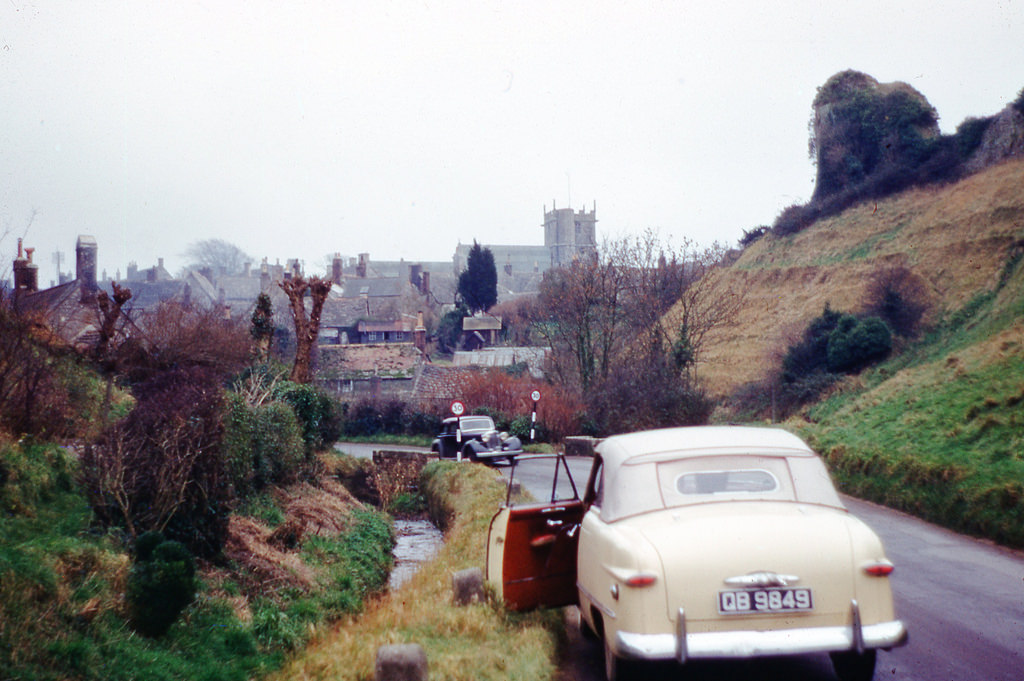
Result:
{"label": "small rounded dark green bush low on the left grassy bank", "polygon": [[193,602],[198,586],[196,561],[182,544],[165,541],[155,531],[138,537],[128,578],[128,603],[136,631],[163,636]]}

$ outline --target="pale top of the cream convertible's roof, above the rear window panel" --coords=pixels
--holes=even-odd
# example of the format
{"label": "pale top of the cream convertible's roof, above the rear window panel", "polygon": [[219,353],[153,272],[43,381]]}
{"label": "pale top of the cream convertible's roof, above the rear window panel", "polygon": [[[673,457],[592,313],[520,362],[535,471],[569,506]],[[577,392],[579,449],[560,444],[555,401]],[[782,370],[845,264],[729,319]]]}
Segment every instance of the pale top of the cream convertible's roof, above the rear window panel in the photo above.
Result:
{"label": "pale top of the cream convertible's roof, above the rear window panel", "polygon": [[686,426],[612,435],[597,445],[606,469],[643,457],[672,459],[716,454],[816,456],[804,440],[780,428],[758,426]]}

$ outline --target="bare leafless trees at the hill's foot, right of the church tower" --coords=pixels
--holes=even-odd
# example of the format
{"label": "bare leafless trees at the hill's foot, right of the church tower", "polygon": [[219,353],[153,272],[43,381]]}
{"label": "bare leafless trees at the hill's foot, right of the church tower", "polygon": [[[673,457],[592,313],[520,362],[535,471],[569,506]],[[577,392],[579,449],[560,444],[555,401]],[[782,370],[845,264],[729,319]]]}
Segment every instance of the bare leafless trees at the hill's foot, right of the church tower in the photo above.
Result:
{"label": "bare leafless trees at the hill's foot, right of the church tower", "polygon": [[647,231],[545,274],[538,329],[558,382],[581,391],[597,430],[616,427],[615,418],[617,427],[707,418],[697,357],[707,333],[731,322],[741,297],[712,293],[709,274],[724,253],[690,242],[676,248]]}

